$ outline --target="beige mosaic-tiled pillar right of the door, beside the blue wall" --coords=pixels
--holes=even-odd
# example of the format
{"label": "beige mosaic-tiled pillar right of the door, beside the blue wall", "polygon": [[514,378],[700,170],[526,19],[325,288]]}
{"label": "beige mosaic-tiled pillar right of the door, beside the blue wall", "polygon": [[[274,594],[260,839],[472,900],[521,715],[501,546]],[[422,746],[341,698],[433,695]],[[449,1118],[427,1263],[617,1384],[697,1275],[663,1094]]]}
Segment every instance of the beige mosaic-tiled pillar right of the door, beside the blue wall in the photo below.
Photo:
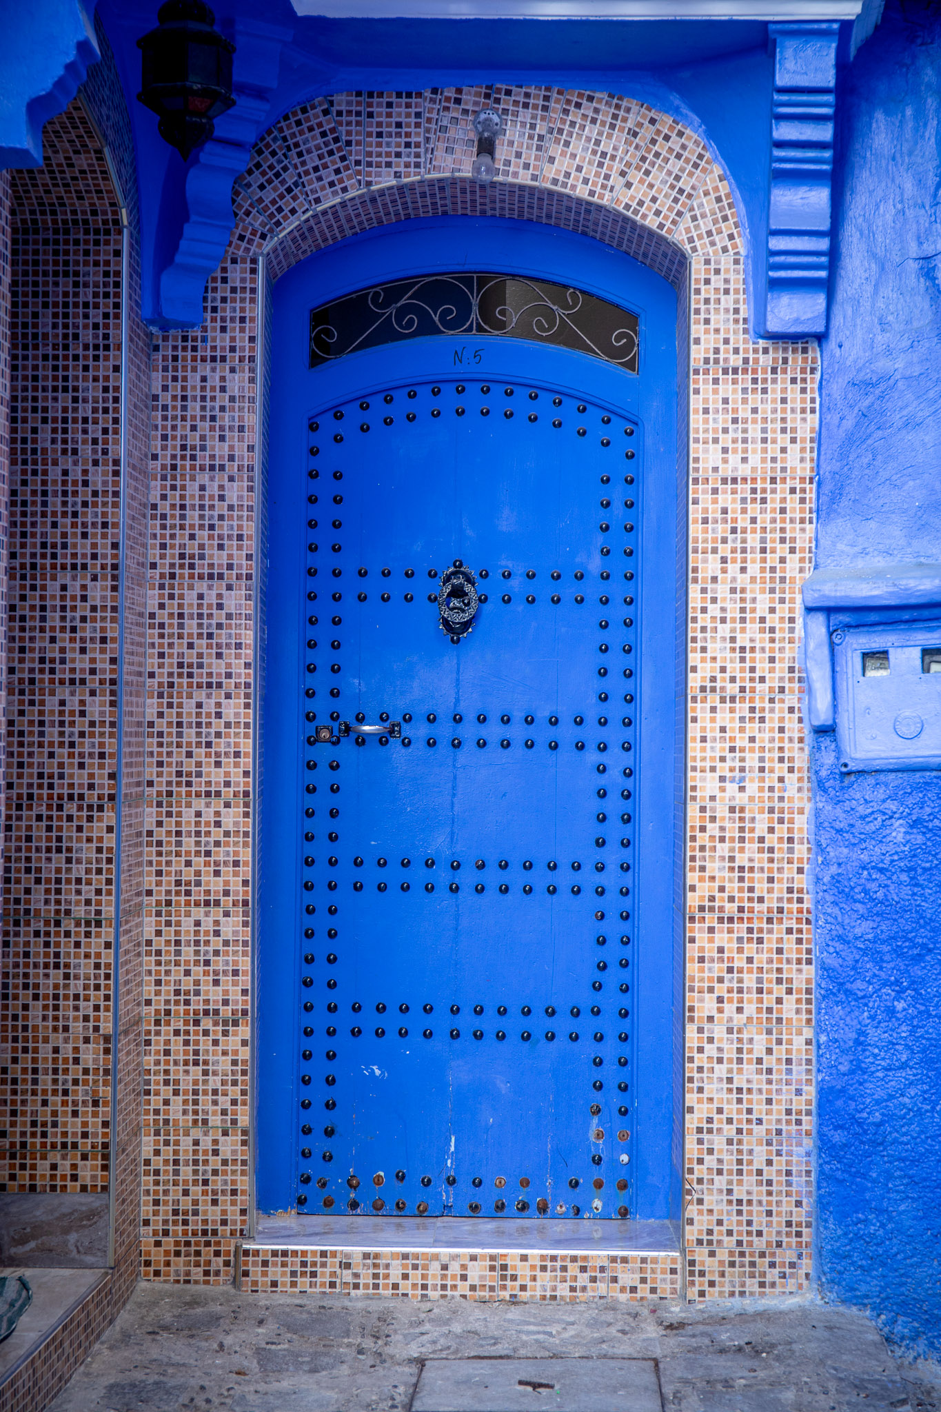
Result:
{"label": "beige mosaic-tiled pillar right of the door, beside the blue wall", "polygon": [[690,1295],[714,1298],[793,1292],[810,1272],[813,953],[796,648],[817,364],[810,345],[751,343],[739,257],[696,260],[691,299],[687,1241]]}

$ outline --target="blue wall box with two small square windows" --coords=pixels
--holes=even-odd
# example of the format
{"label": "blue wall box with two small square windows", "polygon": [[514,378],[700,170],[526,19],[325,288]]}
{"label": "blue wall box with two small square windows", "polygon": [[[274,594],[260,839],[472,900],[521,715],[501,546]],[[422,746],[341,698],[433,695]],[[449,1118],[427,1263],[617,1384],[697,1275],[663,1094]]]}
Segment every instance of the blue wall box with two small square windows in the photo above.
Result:
{"label": "blue wall box with two small square windows", "polygon": [[941,768],[941,623],[831,633],[839,770]]}

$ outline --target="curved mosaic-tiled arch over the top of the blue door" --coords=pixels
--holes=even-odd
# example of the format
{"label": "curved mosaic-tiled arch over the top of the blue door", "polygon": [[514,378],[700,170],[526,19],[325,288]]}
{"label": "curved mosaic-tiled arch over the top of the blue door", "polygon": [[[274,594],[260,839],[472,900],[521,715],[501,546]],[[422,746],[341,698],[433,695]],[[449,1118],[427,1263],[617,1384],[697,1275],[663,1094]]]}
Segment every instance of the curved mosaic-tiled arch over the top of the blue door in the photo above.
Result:
{"label": "curved mosaic-tiled arch over the top of the blue door", "polygon": [[[482,103],[504,119],[491,186],[470,179]],[[245,236],[269,249],[272,278],[344,236],[433,215],[577,230],[673,284],[684,254],[741,254],[728,185],[698,137],[646,103],[556,89],[303,103],[260,140],[234,205]]]}

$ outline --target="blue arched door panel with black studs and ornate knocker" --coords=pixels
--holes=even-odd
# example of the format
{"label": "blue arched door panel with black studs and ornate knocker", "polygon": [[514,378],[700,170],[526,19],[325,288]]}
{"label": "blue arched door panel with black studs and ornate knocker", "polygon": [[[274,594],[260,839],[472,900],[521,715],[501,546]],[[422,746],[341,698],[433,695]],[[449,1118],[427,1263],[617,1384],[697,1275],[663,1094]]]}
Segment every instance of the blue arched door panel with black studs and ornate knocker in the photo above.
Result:
{"label": "blue arched door panel with black studs and ornate knocker", "polygon": [[278,412],[272,1190],[310,1214],[645,1214],[645,422],[508,343]]}

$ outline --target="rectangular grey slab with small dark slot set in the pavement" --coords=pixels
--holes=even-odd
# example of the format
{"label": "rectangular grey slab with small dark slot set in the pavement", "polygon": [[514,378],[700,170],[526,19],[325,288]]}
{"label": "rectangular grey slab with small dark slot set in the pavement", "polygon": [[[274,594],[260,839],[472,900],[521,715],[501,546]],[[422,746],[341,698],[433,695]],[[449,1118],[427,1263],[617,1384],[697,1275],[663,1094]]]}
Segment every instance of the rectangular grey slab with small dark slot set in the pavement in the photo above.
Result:
{"label": "rectangular grey slab with small dark slot set in the pavement", "polygon": [[662,1412],[650,1358],[440,1358],[412,1412]]}

